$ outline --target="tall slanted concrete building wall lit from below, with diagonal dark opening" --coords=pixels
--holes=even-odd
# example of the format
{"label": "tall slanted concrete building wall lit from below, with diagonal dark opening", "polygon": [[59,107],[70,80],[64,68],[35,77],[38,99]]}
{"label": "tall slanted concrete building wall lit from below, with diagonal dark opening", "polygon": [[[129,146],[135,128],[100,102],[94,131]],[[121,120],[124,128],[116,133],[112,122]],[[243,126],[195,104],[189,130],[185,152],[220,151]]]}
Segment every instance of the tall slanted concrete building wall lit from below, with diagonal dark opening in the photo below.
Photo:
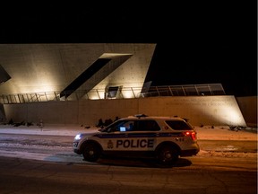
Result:
{"label": "tall slanted concrete building wall lit from below, with diagonal dark opening", "polygon": [[[114,55],[132,57],[98,80],[96,88],[142,87],[155,47],[133,43],[0,44],[0,64],[12,77],[0,85],[0,94],[61,92],[99,57]],[[99,74],[107,73],[110,66],[100,69]],[[88,83],[91,88],[97,78],[93,76]]]}

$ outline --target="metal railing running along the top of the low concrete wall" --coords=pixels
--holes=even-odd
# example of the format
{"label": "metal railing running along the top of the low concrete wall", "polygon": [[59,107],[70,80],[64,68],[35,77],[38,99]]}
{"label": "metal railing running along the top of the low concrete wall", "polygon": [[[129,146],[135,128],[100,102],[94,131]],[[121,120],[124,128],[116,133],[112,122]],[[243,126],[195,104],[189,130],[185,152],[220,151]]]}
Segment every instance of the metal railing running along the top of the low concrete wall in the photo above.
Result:
{"label": "metal railing running along the top of the low concrete wall", "polygon": [[187,84],[150,86],[147,93],[142,93],[140,87],[123,87],[110,98],[105,89],[83,90],[69,93],[69,97],[60,98],[60,92],[42,93],[16,93],[0,95],[0,103],[28,103],[38,101],[81,101],[100,99],[130,99],[147,98],[153,96],[200,96],[200,95],[225,95],[221,84]]}

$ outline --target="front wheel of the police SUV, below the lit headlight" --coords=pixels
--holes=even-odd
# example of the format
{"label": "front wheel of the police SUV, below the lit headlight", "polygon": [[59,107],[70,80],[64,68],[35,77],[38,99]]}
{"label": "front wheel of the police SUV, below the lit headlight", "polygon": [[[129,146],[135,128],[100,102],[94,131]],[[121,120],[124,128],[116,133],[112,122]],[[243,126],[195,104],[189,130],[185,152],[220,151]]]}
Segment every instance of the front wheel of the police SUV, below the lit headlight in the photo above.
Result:
{"label": "front wheel of the police SUV, below the lit headlight", "polygon": [[85,161],[96,162],[101,154],[99,145],[95,143],[87,143],[83,146],[82,155]]}

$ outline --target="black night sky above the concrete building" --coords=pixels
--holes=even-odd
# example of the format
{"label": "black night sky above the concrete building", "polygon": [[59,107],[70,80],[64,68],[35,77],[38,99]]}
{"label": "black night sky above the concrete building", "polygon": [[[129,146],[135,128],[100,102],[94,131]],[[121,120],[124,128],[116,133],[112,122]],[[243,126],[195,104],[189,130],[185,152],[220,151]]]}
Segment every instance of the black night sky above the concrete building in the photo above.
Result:
{"label": "black night sky above the concrete building", "polygon": [[2,43],[157,43],[146,82],[222,84],[229,95],[257,95],[254,0],[30,6],[2,7]]}

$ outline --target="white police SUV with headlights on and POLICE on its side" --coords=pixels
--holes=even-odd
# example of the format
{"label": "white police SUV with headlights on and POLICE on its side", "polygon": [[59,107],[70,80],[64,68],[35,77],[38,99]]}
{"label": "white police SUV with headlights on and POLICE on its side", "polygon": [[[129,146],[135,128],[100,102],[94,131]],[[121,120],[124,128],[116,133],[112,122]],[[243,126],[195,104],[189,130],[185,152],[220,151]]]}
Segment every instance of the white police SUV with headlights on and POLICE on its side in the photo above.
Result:
{"label": "white police SUV with headlights on and POLICE on its side", "polygon": [[100,156],[152,157],[159,164],[176,163],[179,156],[198,154],[196,131],[186,119],[135,115],[118,119],[95,133],[74,137],[73,152],[85,161],[96,162]]}

